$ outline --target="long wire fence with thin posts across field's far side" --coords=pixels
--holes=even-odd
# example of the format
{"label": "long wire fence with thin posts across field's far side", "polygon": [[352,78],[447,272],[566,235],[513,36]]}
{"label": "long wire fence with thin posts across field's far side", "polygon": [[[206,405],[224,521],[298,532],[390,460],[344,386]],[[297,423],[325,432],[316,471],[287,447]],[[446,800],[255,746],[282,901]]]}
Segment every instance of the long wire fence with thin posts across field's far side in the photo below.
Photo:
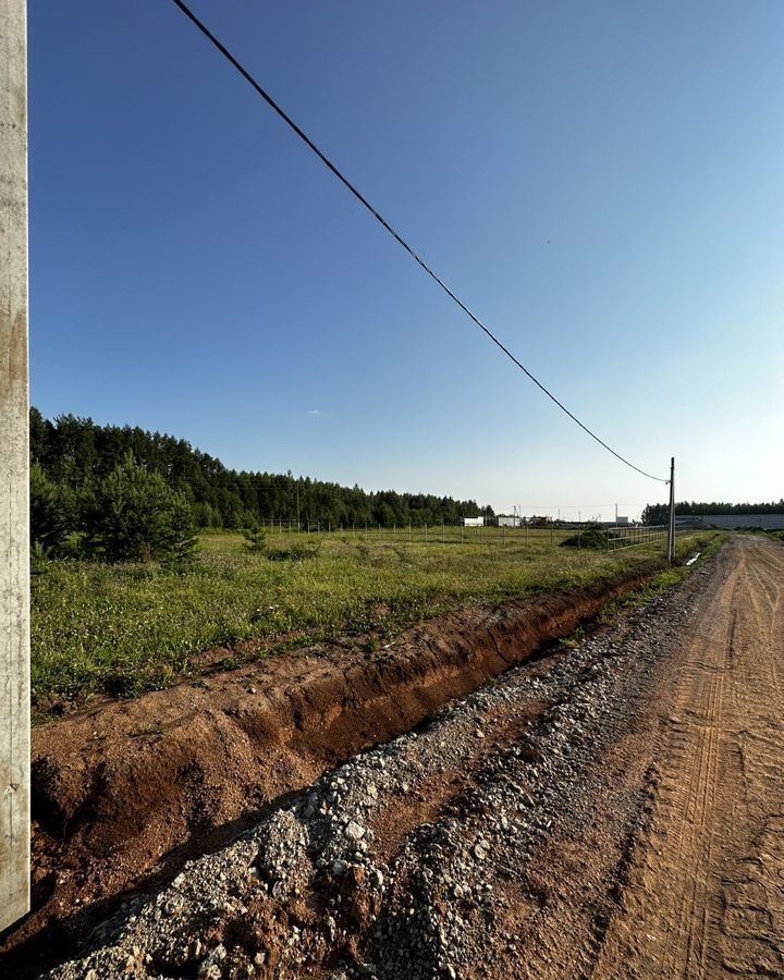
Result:
{"label": "long wire fence with thin posts across field's far side", "polygon": [[[381,524],[333,524],[330,520],[265,519],[261,527],[270,535],[308,537],[324,540],[357,541],[378,544],[442,544],[442,546],[530,546],[556,548],[569,542],[575,548],[590,548],[608,552],[640,546],[666,548],[667,528],[664,525],[599,525],[595,522],[552,520],[544,525],[465,526],[463,524],[421,524],[385,527]],[[678,537],[693,534],[676,528]]]}

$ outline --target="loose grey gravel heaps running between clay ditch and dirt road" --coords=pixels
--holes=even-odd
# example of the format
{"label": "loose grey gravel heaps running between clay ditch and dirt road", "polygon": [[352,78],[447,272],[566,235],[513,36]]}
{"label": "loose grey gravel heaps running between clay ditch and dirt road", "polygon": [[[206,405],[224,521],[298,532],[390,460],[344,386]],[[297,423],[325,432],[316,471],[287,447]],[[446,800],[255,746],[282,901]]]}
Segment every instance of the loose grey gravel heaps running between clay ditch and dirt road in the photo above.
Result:
{"label": "loose grey gravel heaps running between clay ditch and dirt road", "polygon": [[425,980],[466,976],[489,947],[513,961],[525,938],[505,927],[505,883],[541,902],[528,856],[676,638],[698,578],[324,775],[47,976]]}

